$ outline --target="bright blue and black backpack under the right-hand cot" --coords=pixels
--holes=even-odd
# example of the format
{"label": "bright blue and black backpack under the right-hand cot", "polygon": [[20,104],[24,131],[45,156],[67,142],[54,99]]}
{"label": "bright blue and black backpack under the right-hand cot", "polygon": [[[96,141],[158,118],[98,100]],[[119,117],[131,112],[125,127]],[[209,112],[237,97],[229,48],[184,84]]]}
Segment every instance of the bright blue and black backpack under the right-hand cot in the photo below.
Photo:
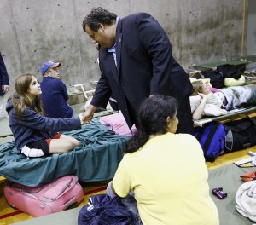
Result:
{"label": "bright blue and black backpack under the right-hand cot", "polygon": [[195,127],[194,136],[200,142],[207,162],[214,162],[223,153],[225,135],[224,125],[218,122]]}

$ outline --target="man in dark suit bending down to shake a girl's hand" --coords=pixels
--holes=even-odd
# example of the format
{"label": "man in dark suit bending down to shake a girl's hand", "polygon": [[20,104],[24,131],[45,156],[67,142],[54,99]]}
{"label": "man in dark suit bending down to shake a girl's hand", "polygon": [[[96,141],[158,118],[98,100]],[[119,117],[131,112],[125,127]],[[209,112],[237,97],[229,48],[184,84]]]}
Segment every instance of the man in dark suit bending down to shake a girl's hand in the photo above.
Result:
{"label": "man in dark suit bending down to shake a girl's hand", "polygon": [[85,16],[83,29],[101,45],[102,75],[85,112],[87,117],[92,117],[97,107],[106,107],[112,93],[131,128],[137,124],[137,109],[145,98],[171,95],[178,102],[177,132],[193,133],[189,76],[173,58],[166,32],[150,14],[131,14],[121,19],[98,7]]}

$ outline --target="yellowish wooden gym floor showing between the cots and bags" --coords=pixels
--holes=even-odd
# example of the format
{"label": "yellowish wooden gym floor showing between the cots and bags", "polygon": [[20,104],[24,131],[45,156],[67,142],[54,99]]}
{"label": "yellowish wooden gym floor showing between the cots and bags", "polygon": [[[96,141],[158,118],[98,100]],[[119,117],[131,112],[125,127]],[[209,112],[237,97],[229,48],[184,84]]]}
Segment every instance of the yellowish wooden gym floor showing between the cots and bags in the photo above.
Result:
{"label": "yellowish wooden gym floor showing between the cots and bags", "polygon": [[[221,155],[216,159],[215,162],[209,163],[207,162],[208,170],[212,170],[223,166],[224,164],[230,164],[236,162],[237,160],[248,158],[248,151],[256,152],[256,147],[246,148],[244,150],[235,152],[235,153],[227,153]],[[25,220],[32,219],[32,216],[27,215],[21,211],[17,211],[14,208],[10,207],[3,194],[3,187],[7,184],[7,180],[0,176],[0,225],[7,225],[15,222],[21,222]],[[86,205],[90,195],[105,193],[105,189],[107,187],[107,183],[81,183],[84,190],[84,200],[80,203],[79,206]]]}

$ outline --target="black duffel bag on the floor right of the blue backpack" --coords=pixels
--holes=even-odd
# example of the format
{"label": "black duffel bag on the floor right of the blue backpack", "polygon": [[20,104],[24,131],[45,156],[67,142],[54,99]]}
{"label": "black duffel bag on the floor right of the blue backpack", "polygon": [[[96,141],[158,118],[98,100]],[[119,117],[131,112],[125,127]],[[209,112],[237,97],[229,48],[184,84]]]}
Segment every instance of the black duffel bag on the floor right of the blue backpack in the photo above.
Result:
{"label": "black duffel bag on the floor right of the blue backpack", "polygon": [[225,152],[234,152],[256,145],[256,119],[242,118],[224,124]]}

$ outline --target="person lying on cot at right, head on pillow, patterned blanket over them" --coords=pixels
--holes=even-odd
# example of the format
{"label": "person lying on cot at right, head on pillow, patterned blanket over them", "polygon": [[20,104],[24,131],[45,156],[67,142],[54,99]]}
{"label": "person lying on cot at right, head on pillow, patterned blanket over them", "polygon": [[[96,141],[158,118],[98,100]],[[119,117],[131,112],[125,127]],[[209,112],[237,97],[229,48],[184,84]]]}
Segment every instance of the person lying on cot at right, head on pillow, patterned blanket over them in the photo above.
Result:
{"label": "person lying on cot at right, head on pillow, patterned blanket over them", "polygon": [[201,80],[192,82],[190,107],[193,119],[203,116],[220,116],[231,110],[254,106],[256,86],[234,86],[215,89]]}

